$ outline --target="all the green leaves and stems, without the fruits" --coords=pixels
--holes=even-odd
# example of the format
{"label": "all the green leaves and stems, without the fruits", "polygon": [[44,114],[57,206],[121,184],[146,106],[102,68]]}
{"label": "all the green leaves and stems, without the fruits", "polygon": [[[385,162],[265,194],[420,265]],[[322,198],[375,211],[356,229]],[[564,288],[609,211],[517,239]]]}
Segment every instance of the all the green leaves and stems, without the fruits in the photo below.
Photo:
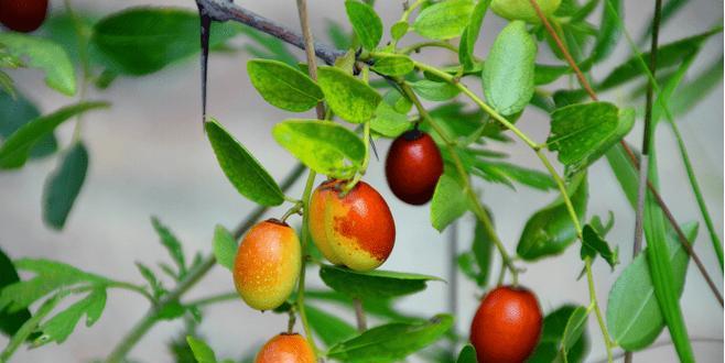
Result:
{"label": "all the green leaves and stems, without the fruits", "polygon": [[[229,8],[223,10],[204,8],[212,2],[217,1],[197,1],[204,16],[219,16],[216,12],[229,12],[229,9],[235,9],[237,16],[249,15],[244,8],[227,2],[225,7]],[[621,21],[623,1],[538,3],[552,30],[542,24],[528,0],[411,1],[391,24],[382,21],[374,1],[336,3],[347,15],[346,23],[326,24],[328,38],[337,47],[331,48],[337,59],[325,58],[328,64],[316,67],[316,78],[310,72],[313,70],[311,59],[300,63],[284,43],[295,34],[275,28],[273,22],[260,26],[259,15],[241,16],[247,24],[214,21],[206,30],[213,51],[229,54],[244,51],[255,57],[247,62],[246,73],[260,101],[285,112],[309,112],[316,107],[324,111],[318,113],[320,120],[294,114],[277,120],[271,128],[273,139],[300,162],[296,174],[278,184],[255,156],[259,151],[248,150],[234,136],[237,125],[232,128],[213,118],[205,120],[204,132],[220,169],[241,197],[259,206],[244,228],[232,233],[216,226],[206,249],[212,253],[192,257],[186,255],[187,246],[172,229],[152,218],[152,228],[169,253],[169,262],[159,262],[152,268],[148,262],[137,261],[138,278],[145,285],[117,280],[56,261],[11,260],[0,251],[0,330],[10,337],[0,361],[10,359],[23,344],[63,343],[80,320],[90,327],[102,317],[107,299],[115,297],[112,289],[126,289],[148,299],[151,310],[141,321],[142,329],[130,332],[109,361],[126,359],[132,345],[155,322],[183,318],[191,323],[183,339],[172,342],[177,359],[193,356],[197,362],[218,362],[214,345],[198,338],[195,328],[204,321],[202,310],[208,305],[238,296],[231,293],[198,300],[182,297],[215,263],[234,270],[240,234],[269,207],[283,206],[288,208],[283,221],[302,216],[300,235],[309,254],[302,257],[302,271],[317,272],[326,287],[305,288],[303,273],[295,293],[271,314],[288,315],[291,322],[300,318],[316,354],[344,362],[394,362],[411,354],[475,362],[475,346],[466,344],[466,333],[459,336],[455,331],[455,317],[447,314],[419,317],[397,308],[400,298],[420,293],[429,283],[441,278],[382,270],[361,273],[327,264],[320,261],[322,255],[307,232],[315,175],[345,180],[338,190],[345,194],[365,176],[371,152],[377,155],[374,140],[394,139],[413,128],[431,134],[445,161],[432,201],[425,207],[430,208],[431,227],[443,232],[464,216],[475,218],[470,244],[458,255],[445,258],[455,258],[458,272],[481,293],[494,284],[494,277],[498,277],[499,284],[507,280],[518,284],[526,264],[555,257],[572,244],[581,243],[577,251],[584,268],[580,277],[586,275],[589,300],[547,309],[550,311],[530,362],[587,360],[593,336],[587,331],[591,319],[596,319],[609,360],[614,346],[630,351],[651,346],[664,327],[669,328],[680,358],[692,360],[686,317],[679,297],[690,260],[681,243],[694,242],[697,223],[682,224],[686,241],[681,241],[674,230],[678,222],[668,220],[671,217],[664,206],[652,193],[647,193],[643,231],[648,248],[627,261],[628,256],[619,256],[619,248],[628,249],[630,241],[607,238],[615,228],[614,216],[625,218],[619,217],[620,211],[610,213],[606,223],[598,216],[587,218],[589,194],[599,193],[602,183],[587,175],[593,175],[588,173],[591,168],[604,165],[596,162],[605,156],[624,196],[636,208],[639,179],[624,146],[625,139],[631,138],[638,116],[643,113],[639,109],[650,85],[657,100],[653,122],[657,124],[662,116],[670,121],[693,190],[702,199],[696,183],[692,182],[696,182],[694,172],[673,117],[692,110],[721,84],[722,54],[694,77],[683,79],[700,50],[722,32],[722,25],[683,35],[648,52],[630,45],[630,56],[607,67],[612,70],[599,81],[593,80],[597,92],[634,89],[630,97],[621,100],[607,95],[603,97],[606,100],[587,101],[589,91],[585,87],[562,87],[565,82],[556,80],[564,76],[592,79],[589,72],[599,74],[605,68],[603,63],[620,43],[621,35],[631,37]],[[685,1],[668,1],[662,24],[686,8],[684,4]],[[483,34],[487,15],[499,15],[508,22],[496,32]],[[410,33],[425,41],[408,42]],[[642,38],[650,34],[651,29]],[[237,47],[231,41],[240,37],[246,44]],[[494,40],[490,50],[476,48],[481,37]],[[73,207],[83,201],[79,196],[90,172],[93,143],[84,139],[80,116],[89,119],[89,111],[111,107],[106,101],[86,99],[86,92],[79,90],[95,86],[101,92],[121,77],[152,77],[170,66],[178,66],[199,54],[198,38],[199,14],[150,7],[101,16],[68,8],[65,12],[51,12],[37,33],[0,33],[0,169],[10,173],[41,158],[55,158],[56,167],[47,176],[42,196],[42,218],[48,228],[59,231],[73,223]],[[322,46],[324,42],[315,40],[321,44],[318,51],[327,50]],[[559,41],[571,52],[583,74],[575,75]],[[416,54],[426,47],[450,51],[457,62],[430,65]],[[543,52],[553,54],[551,64],[537,63]],[[657,77],[645,61],[651,53],[659,59]],[[22,87],[15,85],[13,76],[18,68],[42,73],[51,89],[77,99],[58,110],[41,109],[34,102],[35,95],[21,91]],[[474,82],[480,82],[483,95],[467,86]],[[660,88],[660,82],[664,87]],[[673,97],[675,91],[678,97]],[[436,105],[429,108],[429,103]],[[550,132],[528,135],[523,131],[527,128],[520,129],[519,123],[527,123],[529,112],[538,111],[544,112]],[[66,142],[56,138],[56,130],[73,121],[76,122],[73,139]],[[656,145],[652,130],[649,136]],[[541,161],[541,169],[506,160],[512,142],[530,148]],[[550,162],[545,150],[555,153],[556,165]],[[657,162],[652,153],[648,172],[654,189]],[[558,167],[563,168],[563,175]],[[286,189],[305,169],[310,178],[302,196],[299,199],[288,196]],[[553,199],[520,227],[515,256],[509,255],[493,221],[500,208],[515,207],[483,202],[485,194],[495,190],[494,184],[513,190],[519,186],[530,187]],[[710,221],[704,202],[700,205],[704,219]],[[714,250],[722,253],[722,248],[717,249],[718,238],[710,229]],[[606,315],[600,311],[594,286],[592,264],[595,262],[606,262],[616,275],[608,289]],[[494,276],[493,266],[497,263],[501,271],[499,276]],[[620,263],[623,267],[616,271]],[[448,293],[454,296],[455,286],[448,285]],[[543,290],[541,286],[535,289]],[[327,309],[328,306],[345,312],[355,310],[358,328],[347,317],[338,316],[337,310]],[[366,329],[361,320],[366,314],[379,323]],[[452,344],[443,348],[444,339]],[[320,348],[316,340],[325,348]]]}

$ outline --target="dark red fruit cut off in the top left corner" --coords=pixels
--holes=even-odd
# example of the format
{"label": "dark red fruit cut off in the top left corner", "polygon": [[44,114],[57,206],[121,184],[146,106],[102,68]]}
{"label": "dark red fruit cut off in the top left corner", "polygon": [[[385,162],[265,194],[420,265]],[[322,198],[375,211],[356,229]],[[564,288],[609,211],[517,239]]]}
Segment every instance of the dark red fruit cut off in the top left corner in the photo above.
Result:
{"label": "dark red fruit cut off in the top left corner", "polygon": [[47,0],[0,0],[0,23],[8,29],[29,33],[43,24]]}

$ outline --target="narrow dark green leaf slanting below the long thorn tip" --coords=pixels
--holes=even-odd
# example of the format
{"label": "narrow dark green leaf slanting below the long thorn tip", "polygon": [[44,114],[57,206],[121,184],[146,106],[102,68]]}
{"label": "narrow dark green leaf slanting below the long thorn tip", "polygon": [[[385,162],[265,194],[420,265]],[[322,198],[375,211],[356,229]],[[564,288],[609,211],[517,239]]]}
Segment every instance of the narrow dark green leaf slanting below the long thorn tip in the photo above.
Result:
{"label": "narrow dark green leaf slanting below the long thorn tip", "polygon": [[239,194],[262,206],[279,206],[284,201],[277,182],[218,121],[210,120],[204,128],[219,166]]}

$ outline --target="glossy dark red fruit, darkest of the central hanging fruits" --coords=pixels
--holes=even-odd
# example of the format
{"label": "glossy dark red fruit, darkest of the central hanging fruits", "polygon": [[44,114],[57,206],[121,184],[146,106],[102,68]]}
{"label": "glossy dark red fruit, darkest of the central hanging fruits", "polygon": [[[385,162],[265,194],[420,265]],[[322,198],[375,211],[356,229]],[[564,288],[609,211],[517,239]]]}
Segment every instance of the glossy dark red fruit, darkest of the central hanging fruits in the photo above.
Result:
{"label": "glossy dark red fruit, darkest of the central hanging fruits", "polygon": [[424,205],[433,197],[443,174],[443,157],[433,138],[419,130],[398,136],[386,160],[390,190],[410,205]]}

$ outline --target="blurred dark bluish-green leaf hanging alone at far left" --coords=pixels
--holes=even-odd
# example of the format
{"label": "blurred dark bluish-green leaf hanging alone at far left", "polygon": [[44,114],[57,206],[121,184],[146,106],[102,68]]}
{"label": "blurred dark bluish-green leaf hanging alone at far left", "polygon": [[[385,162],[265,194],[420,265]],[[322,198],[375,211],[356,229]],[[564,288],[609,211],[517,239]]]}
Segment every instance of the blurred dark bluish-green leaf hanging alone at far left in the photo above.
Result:
{"label": "blurred dark bluish-green leaf hanging alone at far left", "polygon": [[88,170],[88,151],[83,142],[75,143],[61,160],[58,168],[48,175],[43,190],[43,220],[62,230],[80,193]]}

